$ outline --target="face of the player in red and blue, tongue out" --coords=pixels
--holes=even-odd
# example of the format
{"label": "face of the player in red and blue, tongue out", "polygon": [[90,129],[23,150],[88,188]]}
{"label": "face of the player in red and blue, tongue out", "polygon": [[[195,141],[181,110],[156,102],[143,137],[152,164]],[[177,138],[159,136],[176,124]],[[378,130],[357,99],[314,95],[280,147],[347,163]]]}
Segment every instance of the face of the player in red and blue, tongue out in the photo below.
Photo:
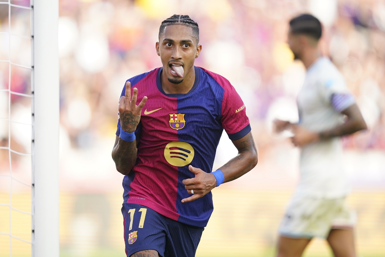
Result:
{"label": "face of the player in red and blue, tongue out", "polygon": [[194,60],[201,53],[192,28],[184,25],[169,25],[156,42],[156,52],[161,57],[163,74],[168,81],[179,84],[194,69]]}

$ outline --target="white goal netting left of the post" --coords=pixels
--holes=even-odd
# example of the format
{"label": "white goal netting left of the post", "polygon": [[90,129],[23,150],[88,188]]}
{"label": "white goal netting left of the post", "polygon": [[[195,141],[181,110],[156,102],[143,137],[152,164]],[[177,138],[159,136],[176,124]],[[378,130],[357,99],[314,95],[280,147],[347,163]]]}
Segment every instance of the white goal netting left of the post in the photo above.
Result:
{"label": "white goal netting left of the post", "polygon": [[30,0],[0,0],[0,257],[32,247]]}

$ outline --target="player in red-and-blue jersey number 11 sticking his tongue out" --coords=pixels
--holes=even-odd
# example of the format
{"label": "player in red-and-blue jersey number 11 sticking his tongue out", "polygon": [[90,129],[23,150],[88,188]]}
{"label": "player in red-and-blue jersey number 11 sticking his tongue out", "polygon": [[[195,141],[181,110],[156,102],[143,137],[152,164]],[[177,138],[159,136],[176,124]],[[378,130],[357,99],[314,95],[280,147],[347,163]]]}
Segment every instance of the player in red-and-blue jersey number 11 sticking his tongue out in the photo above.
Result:
{"label": "player in red-and-blue jersey number 11 sticking his tongue out", "polygon": [[[201,49],[198,24],[173,15],[156,42],[162,67],[123,88],[112,158],[125,175],[127,256],[195,256],[211,190],[257,164],[244,103],[227,79],[194,66]],[[223,129],[238,155],[211,172]]]}

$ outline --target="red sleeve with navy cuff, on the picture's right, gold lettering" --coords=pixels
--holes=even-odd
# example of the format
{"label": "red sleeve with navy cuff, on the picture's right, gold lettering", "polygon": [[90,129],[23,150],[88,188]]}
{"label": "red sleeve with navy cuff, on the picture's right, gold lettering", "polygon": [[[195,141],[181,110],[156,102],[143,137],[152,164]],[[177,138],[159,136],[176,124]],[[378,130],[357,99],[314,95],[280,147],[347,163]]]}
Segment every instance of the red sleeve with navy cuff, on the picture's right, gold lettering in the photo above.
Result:
{"label": "red sleeve with navy cuff, on the picture's right, gold lettering", "polygon": [[221,111],[222,126],[231,140],[242,138],[251,131],[246,106],[231,84],[225,87]]}

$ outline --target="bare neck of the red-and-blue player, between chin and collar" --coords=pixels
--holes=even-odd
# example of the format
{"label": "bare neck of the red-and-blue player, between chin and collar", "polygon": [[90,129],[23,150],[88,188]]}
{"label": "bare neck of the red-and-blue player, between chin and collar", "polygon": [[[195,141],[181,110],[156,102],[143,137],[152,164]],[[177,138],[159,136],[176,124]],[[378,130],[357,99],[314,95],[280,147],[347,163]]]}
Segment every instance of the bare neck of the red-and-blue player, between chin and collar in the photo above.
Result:
{"label": "bare neck of the red-and-blue player, between chin and collar", "polygon": [[161,72],[161,86],[166,94],[186,94],[194,86],[195,82],[195,69],[192,69],[184,77],[183,81],[179,84],[174,84],[167,79],[167,75]]}

